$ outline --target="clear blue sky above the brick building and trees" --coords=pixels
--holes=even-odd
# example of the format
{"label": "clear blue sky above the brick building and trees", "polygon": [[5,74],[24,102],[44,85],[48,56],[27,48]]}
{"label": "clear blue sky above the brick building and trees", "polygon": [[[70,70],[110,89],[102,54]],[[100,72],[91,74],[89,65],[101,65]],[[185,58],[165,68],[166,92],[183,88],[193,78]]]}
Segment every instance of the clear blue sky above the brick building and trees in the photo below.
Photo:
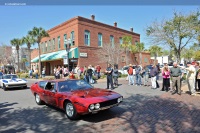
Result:
{"label": "clear blue sky above the brick building and trees", "polygon": [[[48,30],[75,16],[95,20],[130,30],[141,36],[145,48],[150,44],[145,28],[153,21],[169,19],[174,11],[184,14],[196,11],[200,6],[0,6],[0,43],[10,45],[13,38],[21,38],[34,26]],[[37,46],[37,45],[36,45]],[[35,46],[35,47],[36,47]]]}

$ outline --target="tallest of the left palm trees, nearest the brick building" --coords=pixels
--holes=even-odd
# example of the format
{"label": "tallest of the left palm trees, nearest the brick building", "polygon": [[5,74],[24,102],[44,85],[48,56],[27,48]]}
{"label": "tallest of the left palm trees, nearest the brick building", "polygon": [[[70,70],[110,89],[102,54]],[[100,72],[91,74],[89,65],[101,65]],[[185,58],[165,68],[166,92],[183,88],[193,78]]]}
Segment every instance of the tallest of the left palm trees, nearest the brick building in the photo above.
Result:
{"label": "tallest of the left palm trees, nearest the brick building", "polygon": [[38,55],[39,55],[39,74],[40,77],[41,74],[41,58],[40,58],[40,42],[43,37],[49,37],[49,34],[42,28],[42,27],[33,27],[32,31],[28,32],[29,35],[31,35],[34,40],[38,43]]}

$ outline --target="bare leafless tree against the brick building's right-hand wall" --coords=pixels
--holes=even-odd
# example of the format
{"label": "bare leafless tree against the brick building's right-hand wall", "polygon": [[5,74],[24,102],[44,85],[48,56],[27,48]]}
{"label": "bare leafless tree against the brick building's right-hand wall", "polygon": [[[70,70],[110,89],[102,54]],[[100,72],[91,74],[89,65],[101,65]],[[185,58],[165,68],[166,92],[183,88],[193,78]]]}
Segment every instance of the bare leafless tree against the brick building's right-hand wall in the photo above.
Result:
{"label": "bare leafless tree against the brick building's right-hand wall", "polygon": [[101,57],[102,61],[108,61],[110,64],[119,64],[121,59],[121,55],[123,53],[123,49],[120,44],[115,44],[112,46],[111,44],[104,44],[102,48],[99,49],[98,55]]}

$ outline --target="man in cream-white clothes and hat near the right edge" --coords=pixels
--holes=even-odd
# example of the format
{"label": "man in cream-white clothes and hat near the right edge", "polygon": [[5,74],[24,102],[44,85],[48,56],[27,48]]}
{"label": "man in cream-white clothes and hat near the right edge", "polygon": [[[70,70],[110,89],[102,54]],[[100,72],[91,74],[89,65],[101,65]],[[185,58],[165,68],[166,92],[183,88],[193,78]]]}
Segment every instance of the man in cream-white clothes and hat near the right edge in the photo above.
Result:
{"label": "man in cream-white clothes and hat near the right edge", "polygon": [[196,91],[195,91],[195,78],[196,78],[196,69],[194,67],[195,62],[188,62],[187,63],[187,68],[185,68],[187,70],[187,83],[188,83],[188,89],[190,91],[191,95],[196,95]]}

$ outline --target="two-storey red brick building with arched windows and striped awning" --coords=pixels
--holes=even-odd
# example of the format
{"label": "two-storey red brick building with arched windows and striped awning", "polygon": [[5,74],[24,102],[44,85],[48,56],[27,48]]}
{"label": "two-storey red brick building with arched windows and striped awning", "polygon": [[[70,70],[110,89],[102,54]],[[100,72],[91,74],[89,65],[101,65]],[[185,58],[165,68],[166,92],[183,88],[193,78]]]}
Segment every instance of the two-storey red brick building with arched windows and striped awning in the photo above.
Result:
{"label": "two-storey red brick building with arched windows and striped awning", "polygon": [[[106,44],[120,44],[123,36],[131,36],[132,44],[140,42],[140,34],[134,33],[133,28],[130,31],[117,27],[115,22],[113,26],[95,21],[95,16],[91,19],[80,16],[74,17],[60,25],[47,31],[49,37],[43,38],[40,44],[42,68],[46,68],[46,74],[52,75],[53,68],[63,66],[63,57],[66,56],[66,41],[70,38],[71,49],[69,52],[69,67],[97,65],[99,64],[104,70],[107,66],[107,60],[100,60],[99,50]],[[125,57],[125,53],[118,55]],[[130,63],[136,64],[137,60],[134,55],[130,55]],[[147,56],[143,56],[147,58]],[[38,62],[38,50],[32,52],[32,66]],[[150,59],[150,54],[148,59]],[[34,64],[35,63],[35,64]],[[125,64],[124,60],[118,62],[119,68]]]}

